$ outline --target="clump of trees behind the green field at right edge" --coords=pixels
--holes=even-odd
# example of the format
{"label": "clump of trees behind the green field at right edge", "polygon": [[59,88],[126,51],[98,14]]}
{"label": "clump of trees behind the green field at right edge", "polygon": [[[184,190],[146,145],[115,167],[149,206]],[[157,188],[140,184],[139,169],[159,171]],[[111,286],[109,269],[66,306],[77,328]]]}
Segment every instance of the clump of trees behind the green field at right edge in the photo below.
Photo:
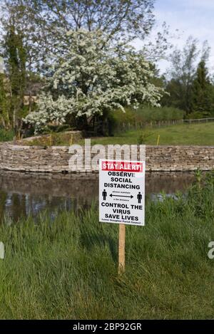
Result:
{"label": "clump of trees behind the green field at right edge", "polygon": [[[210,108],[212,108],[210,100],[214,97],[214,90],[211,85],[206,85],[201,90],[202,87],[198,81],[200,80],[198,75],[202,75],[202,71],[204,71],[203,75],[207,77],[205,63],[208,60],[209,51],[210,48],[206,41],[203,43],[202,50],[200,50],[198,48],[198,41],[192,36],[186,41],[183,50],[175,48],[173,53],[170,54],[171,68],[168,70],[168,80],[166,80],[165,84],[165,90],[170,95],[163,97],[161,101],[163,105],[174,106],[185,110],[187,113],[193,111],[209,113]],[[204,67],[204,70],[202,70],[201,66]],[[200,94],[200,98],[199,96],[197,98],[198,93]],[[199,103],[199,100],[203,101],[202,104]]]}

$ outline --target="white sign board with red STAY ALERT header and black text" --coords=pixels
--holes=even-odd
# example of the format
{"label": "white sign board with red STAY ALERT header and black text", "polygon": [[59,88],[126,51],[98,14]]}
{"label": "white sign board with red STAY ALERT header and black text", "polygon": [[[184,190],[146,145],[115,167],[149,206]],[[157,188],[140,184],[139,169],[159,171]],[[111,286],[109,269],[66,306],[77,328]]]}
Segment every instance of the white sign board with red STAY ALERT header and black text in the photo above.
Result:
{"label": "white sign board with red STAY ALERT header and black text", "polygon": [[99,221],[144,225],[145,162],[100,160]]}

